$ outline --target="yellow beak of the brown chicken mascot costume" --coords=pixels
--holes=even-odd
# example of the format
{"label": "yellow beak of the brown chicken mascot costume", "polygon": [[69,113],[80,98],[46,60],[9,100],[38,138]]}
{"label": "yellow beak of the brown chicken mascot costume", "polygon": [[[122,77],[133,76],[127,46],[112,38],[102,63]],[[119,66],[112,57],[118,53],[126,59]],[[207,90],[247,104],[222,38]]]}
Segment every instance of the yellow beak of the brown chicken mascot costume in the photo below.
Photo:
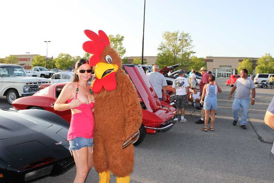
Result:
{"label": "yellow beak of the brown chicken mascot costume", "polygon": [[116,64],[103,63],[99,62],[95,65],[95,76],[98,79],[102,79],[112,72],[116,72],[118,70],[118,66]]}

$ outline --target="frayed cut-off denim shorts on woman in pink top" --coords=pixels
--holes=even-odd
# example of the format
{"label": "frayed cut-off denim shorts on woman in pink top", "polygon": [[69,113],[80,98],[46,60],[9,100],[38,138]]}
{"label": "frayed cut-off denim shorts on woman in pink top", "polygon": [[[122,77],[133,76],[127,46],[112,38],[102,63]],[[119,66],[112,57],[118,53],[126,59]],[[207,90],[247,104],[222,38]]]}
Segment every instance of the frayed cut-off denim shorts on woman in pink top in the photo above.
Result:
{"label": "frayed cut-off denim shorts on woman in pink top", "polygon": [[72,151],[76,151],[77,155],[79,156],[77,150],[81,149],[82,147],[88,147],[89,151],[93,153],[93,138],[76,137],[68,142],[71,155]]}

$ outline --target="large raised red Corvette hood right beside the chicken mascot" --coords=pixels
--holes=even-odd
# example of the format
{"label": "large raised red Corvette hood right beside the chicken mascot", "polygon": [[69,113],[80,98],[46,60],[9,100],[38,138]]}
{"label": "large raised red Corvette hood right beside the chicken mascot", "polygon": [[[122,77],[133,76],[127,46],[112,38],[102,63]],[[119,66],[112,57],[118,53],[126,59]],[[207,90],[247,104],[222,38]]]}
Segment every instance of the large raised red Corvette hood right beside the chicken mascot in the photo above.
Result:
{"label": "large raised red Corvette hood right beside the chicken mascot", "polygon": [[141,96],[142,101],[146,105],[147,110],[149,112],[155,112],[160,109],[160,100],[158,99],[157,94],[150,84],[149,79],[144,73],[142,67],[135,65],[124,65],[124,67],[139,95]]}

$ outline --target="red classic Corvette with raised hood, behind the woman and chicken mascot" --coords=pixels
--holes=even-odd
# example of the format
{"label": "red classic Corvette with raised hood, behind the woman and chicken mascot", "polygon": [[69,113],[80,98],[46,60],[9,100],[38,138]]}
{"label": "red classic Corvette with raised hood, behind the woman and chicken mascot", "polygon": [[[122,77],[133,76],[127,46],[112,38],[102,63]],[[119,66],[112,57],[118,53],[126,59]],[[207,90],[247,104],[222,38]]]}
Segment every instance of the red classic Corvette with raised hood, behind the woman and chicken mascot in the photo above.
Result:
{"label": "red classic Corvette with raised hood, behind the woman and chicken mascot", "polygon": [[[170,130],[176,123],[173,121],[177,110],[166,102],[158,99],[148,77],[141,67],[125,66],[125,69],[131,78],[139,94],[140,104],[142,106],[142,125],[140,127],[140,137],[134,145],[139,145],[145,138],[146,133],[156,134]],[[71,120],[71,110],[55,111],[53,106],[61,90],[67,83],[56,83],[41,85],[40,91],[32,96],[22,97],[12,102],[13,110],[21,109],[44,109],[56,113],[64,118],[68,123]],[[95,104],[96,105],[96,104]],[[134,106],[132,106],[134,110]]]}

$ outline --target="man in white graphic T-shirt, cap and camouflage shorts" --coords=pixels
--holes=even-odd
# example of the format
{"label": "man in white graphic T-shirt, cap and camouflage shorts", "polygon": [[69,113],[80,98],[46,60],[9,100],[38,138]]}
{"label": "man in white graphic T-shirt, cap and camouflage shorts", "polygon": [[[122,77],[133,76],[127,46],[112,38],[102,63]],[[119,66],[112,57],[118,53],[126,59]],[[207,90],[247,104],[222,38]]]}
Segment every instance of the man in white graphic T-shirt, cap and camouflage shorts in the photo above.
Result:
{"label": "man in white graphic T-shirt, cap and camouflage shorts", "polygon": [[[184,108],[188,104],[189,84],[188,84],[188,79],[184,77],[183,70],[179,70],[178,74],[179,76],[174,80],[172,84],[172,91],[175,94],[175,99],[176,99],[175,105],[176,105],[177,113],[179,112],[179,110],[181,110],[180,122],[186,122],[187,119],[184,118]],[[180,119],[180,116],[178,116],[178,118]]]}

